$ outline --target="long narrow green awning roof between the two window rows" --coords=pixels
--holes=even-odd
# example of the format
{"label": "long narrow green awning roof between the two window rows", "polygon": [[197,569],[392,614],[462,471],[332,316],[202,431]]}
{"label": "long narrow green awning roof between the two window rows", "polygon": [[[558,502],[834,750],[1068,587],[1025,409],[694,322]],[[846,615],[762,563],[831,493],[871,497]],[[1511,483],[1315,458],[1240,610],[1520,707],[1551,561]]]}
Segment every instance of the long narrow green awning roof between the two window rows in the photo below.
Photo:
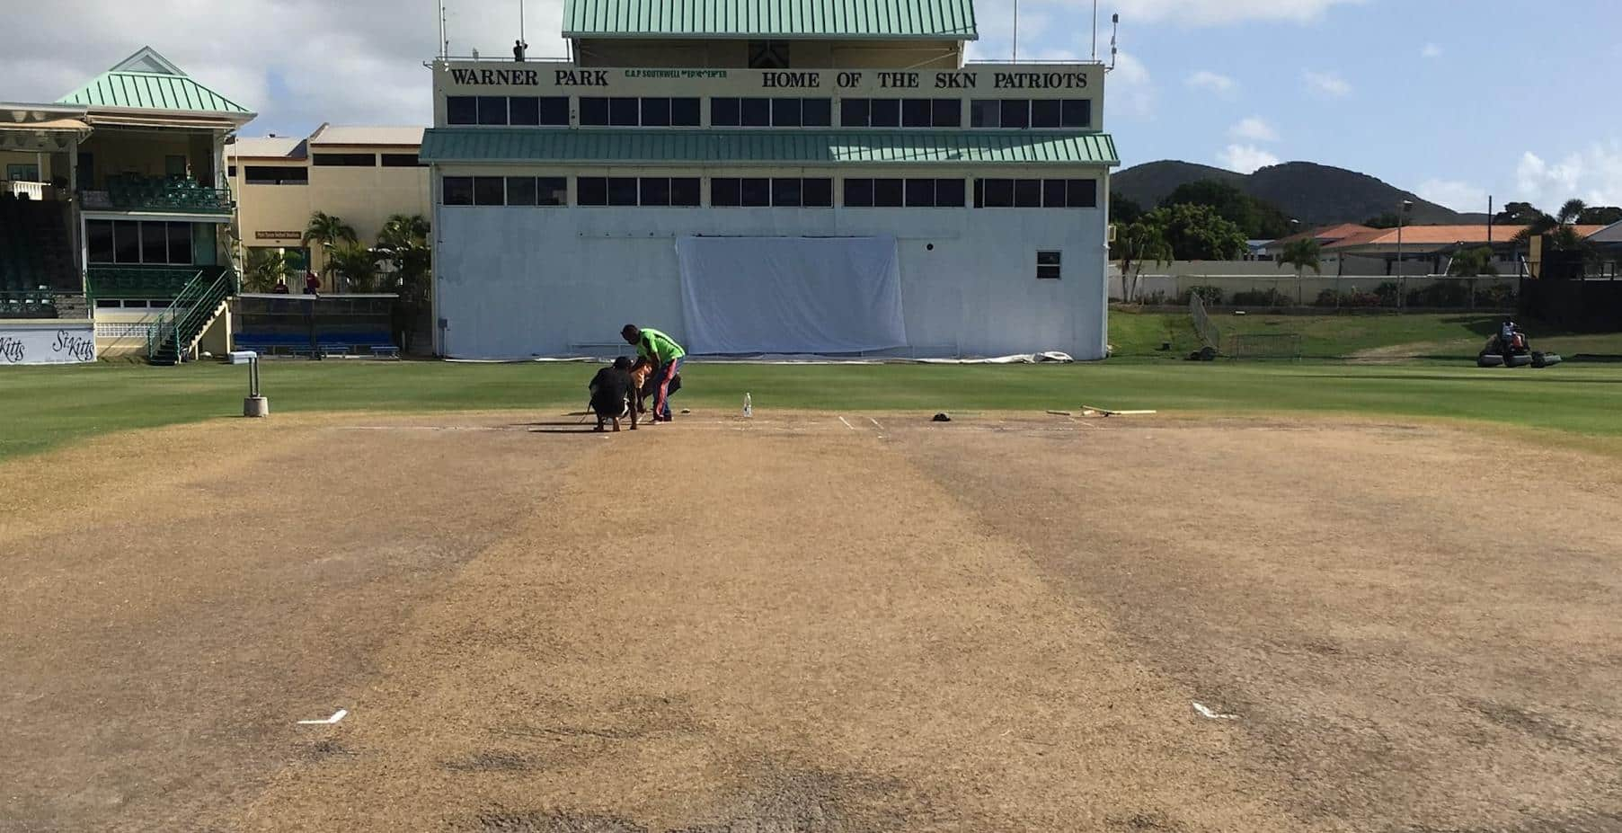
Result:
{"label": "long narrow green awning roof between the two window rows", "polygon": [[1119,165],[1108,133],[435,128],[423,162]]}

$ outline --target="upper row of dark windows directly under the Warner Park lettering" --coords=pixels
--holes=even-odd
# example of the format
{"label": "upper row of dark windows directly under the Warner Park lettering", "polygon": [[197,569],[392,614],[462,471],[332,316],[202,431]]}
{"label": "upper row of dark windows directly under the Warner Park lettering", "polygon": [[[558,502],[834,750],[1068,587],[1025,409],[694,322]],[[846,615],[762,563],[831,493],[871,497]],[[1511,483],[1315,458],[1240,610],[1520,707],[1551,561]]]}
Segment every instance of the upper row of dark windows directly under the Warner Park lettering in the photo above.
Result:
{"label": "upper row of dark windows directly under the Warner Park lettering", "polygon": [[[451,125],[568,126],[568,96],[451,96]],[[847,128],[960,128],[962,99],[840,99]],[[1087,128],[1092,99],[973,99],[970,126]],[[581,97],[582,126],[701,126],[696,97]],[[719,128],[834,126],[834,99],[712,97],[710,125]],[[321,156],[321,154],[316,154]]]}

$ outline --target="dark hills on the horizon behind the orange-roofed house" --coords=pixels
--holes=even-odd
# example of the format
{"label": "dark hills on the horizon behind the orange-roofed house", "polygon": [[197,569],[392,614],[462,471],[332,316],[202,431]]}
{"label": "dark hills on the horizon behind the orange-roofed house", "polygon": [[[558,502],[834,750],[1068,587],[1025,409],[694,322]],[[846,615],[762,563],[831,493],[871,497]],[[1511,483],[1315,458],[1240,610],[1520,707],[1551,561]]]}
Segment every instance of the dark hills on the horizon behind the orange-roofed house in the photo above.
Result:
{"label": "dark hills on the horizon behind the orange-roofed house", "polygon": [[1278,206],[1286,216],[1301,220],[1302,225],[1362,222],[1369,217],[1395,212],[1403,199],[1413,199],[1414,207],[1410,219],[1419,225],[1486,222],[1484,216],[1460,214],[1427,203],[1367,173],[1312,162],[1268,165],[1251,175],[1192,162],[1147,162],[1111,177],[1109,190],[1144,207],[1153,207],[1179,185],[1197,180],[1233,183],[1246,194]]}

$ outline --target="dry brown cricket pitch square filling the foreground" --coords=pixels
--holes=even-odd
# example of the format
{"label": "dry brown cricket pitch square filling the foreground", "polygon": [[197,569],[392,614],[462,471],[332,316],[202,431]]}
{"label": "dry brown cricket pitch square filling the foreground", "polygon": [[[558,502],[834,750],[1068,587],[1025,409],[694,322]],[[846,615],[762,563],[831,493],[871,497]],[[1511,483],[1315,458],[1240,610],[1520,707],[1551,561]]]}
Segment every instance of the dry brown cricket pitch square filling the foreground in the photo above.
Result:
{"label": "dry brown cricket pitch square filling the foreground", "polygon": [[1612,457],[555,421],[0,467],[0,831],[1622,830]]}

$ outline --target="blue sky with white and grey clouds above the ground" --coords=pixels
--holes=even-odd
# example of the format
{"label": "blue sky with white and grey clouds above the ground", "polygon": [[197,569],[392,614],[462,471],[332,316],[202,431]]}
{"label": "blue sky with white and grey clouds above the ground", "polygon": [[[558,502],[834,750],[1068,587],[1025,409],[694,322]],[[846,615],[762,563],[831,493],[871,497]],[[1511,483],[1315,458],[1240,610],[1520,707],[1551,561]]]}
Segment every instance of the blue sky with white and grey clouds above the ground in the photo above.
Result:
{"label": "blue sky with white and grey clouds above the ground", "polygon": [[[0,0],[8,8],[21,0]],[[453,52],[504,53],[519,0],[446,0]],[[563,0],[526,0],[530,52],[561,55]],[[1105,0],[1122,16],[1106,126],[1127,164],[1312,160],[1461,211],[1580,196],[1622,204],[1617,0]],[[31,10],[29,10],[31,8]],[[1012,0],[976,0],[976,58],[1011,53]],[[431,0],[57,0],[8,19],[0,100],[52,100],[151,44],[261,115],[425,123]],[[1022,58],[1085,58],[1090,0],[1022,0]],[[193,36],[188,32],[208,32]]]}

